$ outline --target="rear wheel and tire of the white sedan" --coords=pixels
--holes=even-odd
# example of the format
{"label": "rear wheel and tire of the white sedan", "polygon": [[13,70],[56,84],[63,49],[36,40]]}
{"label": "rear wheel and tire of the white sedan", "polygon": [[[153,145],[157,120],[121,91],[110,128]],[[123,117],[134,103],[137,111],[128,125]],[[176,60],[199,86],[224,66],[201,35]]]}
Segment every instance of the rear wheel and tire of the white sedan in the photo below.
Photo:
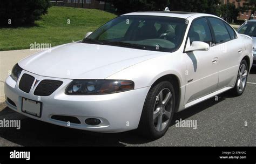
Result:
{"label": "rear wheel and tire of the white sedan", "polygon": [[235,86],[231,90],[232,95],[240,96],[244,93],[247,84],[247,77],[248,65],[245,60],[242,60],[238,70],[237,81],[235,81]]}

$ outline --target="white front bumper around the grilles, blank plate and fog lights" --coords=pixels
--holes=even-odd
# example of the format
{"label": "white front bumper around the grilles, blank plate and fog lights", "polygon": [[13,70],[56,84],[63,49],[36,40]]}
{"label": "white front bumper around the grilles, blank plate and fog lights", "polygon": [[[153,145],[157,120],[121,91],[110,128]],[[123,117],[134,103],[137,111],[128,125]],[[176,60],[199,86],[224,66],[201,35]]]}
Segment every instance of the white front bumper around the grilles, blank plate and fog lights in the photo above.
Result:
{"label": "white front bumper around the grilles, blank plate and fog lights", "polygon": [[[32,87],[29,93],[25,93],[19,89],[19,80],[24,73],[30,74],[36,80],[61,80],[63,84],[50,96],[38,97],[33,94],[36,87]],[[6,104],[12,110],[27,117],[59,126],[106,133],[136,129],[139,125],[146,95],[150,90],[150,87],[145,87],[106,95],[66,95],[64,92],[65,88],[72,81],[70,79],[42,77],[23,70],[19,80],[17,83],[11,77],[5,80],[4,93]],[[22,98],[35,101],[39,99],[42,102],[41,118],[22,112]],[[11,100],[12,103],[8,100]],[[12,105],[13,103],[15,106]],[[51,118],[52,115],[75,117],[80,121],[80,124],[68,124],[65,121],[55,120]],[[101,123],[97,126],[87,125],[85,124],[85,120],[88,118],[99,119]]]}

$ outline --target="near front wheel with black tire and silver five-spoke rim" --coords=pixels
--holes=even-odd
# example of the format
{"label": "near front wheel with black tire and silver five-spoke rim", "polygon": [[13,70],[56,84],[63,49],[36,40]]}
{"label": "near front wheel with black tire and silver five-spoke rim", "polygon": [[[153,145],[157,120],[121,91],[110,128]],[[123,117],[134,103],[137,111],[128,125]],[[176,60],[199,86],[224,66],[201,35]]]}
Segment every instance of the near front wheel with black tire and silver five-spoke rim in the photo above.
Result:
{"label": "near front wheel with black tire and silver five-spoke rim", "polygon": [[175,98],[174,87],[169,81],[163,81],[153,86],[147,94],[143,107],[137,129],[139,134],[149,139],[161,138],[171,124],[176,105]]}

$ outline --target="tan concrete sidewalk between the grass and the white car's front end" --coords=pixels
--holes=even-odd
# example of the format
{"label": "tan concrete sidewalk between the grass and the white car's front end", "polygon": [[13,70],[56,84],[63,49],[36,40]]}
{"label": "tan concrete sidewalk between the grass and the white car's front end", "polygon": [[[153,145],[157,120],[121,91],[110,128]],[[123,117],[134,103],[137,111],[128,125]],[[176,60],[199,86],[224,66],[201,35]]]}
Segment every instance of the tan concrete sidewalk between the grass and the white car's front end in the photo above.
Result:
{"label": "tan concrete sidewalk between the grass and the white car's front end", "polygon": [[30,56],[38,51],[31,50],[15,50],[15,51],[0,51],[0,103],[5,101],[4,97],[4,81],[11,72],[12,67],[19,60]]}

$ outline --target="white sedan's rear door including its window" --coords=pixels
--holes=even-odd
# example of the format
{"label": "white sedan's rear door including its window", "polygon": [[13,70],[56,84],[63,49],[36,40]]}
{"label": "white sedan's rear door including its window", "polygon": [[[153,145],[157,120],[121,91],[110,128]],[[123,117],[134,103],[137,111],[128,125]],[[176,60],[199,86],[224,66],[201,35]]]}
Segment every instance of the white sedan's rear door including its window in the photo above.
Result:
{"label": "white sedan's rear door including its window", "polygon": [[240,58],[244,46],[238,42],[235,31],[224,20],[208,17],[215,37],[215,51],[218,56],[219,81],[217,89],[233,86],[237,78]]}

